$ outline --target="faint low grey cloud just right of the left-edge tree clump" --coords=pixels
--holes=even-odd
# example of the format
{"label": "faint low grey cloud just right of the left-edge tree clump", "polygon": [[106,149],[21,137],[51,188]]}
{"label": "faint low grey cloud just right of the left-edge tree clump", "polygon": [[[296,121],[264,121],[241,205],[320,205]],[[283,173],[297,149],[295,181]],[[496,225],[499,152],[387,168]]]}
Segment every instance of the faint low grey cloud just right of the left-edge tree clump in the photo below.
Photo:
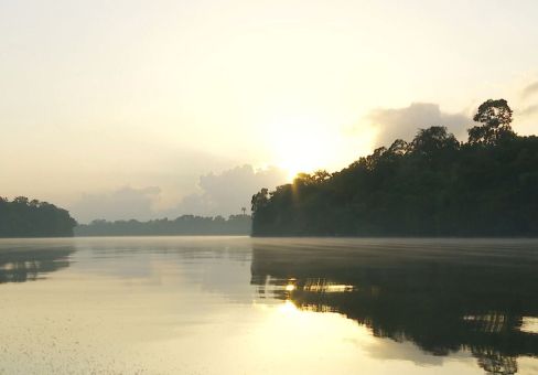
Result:
{"label": "faint low grey cloud just right of the left-edge tree clump", "polygon": [[84,194],[69,207],[69,212],[79,223],[89,223],[96,218],[149,219],[154,217],[152,206],[160,193],[158,186],[126,186],[111,193]]}

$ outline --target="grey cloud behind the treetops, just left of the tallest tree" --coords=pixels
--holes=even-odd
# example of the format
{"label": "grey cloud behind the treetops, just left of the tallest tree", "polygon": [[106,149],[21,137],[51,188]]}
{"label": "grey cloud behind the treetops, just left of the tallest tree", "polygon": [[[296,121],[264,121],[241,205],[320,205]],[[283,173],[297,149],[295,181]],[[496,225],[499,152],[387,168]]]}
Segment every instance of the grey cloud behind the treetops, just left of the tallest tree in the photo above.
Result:
{"label": "grey cloud behind the treetops, just left of the tallest tree", "polygon": [[431,103],[413,103],[405,108],[375,109],[367,116],[378,129],[376,146],[390,146],[400,138],[411,140],[418,129],[431,126],[445,126],[454,136],[466,137],[465,129],[472,119],[464,114],[445,114],[439,105]]}

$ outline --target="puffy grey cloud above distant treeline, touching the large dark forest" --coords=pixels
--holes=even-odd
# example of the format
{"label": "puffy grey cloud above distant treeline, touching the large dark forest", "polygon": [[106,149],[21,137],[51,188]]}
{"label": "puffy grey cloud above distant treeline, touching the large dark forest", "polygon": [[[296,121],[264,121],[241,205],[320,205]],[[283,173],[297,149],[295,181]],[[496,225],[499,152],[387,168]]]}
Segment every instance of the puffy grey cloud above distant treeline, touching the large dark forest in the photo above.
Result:
{"label": "puffy grey cloud above distant treeline, touching the large dark forest", "polygon": [[255,170],[245,164],[200,178],[200,194],[191,194],[170,213],[197,215],[232,215],[250,211],[250,197],[261,188],[273,189],[287,181],[287,173],[276,167]]}

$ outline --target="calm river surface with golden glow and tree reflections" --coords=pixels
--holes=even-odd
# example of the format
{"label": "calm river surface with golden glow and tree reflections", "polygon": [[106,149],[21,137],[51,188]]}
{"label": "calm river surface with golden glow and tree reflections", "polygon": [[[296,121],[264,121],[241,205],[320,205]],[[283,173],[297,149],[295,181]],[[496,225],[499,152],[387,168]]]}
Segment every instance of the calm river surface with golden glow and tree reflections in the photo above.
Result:
{"label": "calm river surface with golden glow and tree reflections", "polygon": [[538,374],[538,240],[0,240],[3,374]]}

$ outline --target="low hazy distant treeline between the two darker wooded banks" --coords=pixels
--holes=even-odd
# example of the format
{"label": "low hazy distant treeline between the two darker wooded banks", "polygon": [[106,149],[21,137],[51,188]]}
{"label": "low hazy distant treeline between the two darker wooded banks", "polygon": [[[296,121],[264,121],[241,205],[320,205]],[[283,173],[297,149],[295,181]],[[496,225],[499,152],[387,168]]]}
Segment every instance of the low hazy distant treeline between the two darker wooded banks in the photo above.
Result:
{"label": "low hazy distant treeline between the two darker wooded banks", "polygon": [[249,235],[249,215],[204,217],[183,215],[175,219],[152,219],[149,222],[105,219],[78,225],[76,236],[174,236],[174,235]]}

